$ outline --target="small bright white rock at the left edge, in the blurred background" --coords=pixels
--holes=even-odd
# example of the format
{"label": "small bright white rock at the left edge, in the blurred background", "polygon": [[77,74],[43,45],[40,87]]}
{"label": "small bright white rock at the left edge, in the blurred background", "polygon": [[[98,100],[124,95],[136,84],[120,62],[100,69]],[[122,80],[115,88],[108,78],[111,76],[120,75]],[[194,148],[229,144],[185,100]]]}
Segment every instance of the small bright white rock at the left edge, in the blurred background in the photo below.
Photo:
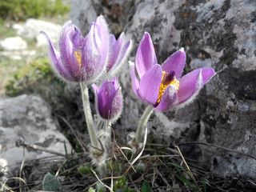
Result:
{"label": "small bright white rock at the left edge, in the blurred background", "polygon": [[0,48],[3,50],[26,50],[27,43],[21,37],[5,38],[0,42]]}

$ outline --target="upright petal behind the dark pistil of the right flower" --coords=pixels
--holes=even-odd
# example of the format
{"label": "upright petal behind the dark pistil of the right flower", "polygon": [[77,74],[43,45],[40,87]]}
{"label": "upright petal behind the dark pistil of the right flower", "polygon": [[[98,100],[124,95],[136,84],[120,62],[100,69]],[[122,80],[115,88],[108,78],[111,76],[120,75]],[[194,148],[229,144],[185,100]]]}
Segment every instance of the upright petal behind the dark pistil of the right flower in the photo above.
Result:
{"label": "upright petal behind the dark pistil of the right flower", "polygon": [[166,59],[162,65],[162,70],[169,73],[170,71],[174,71],[176,78],[179,79],[182,75],[185,62],[186,54],[183,49],[180,49]]}

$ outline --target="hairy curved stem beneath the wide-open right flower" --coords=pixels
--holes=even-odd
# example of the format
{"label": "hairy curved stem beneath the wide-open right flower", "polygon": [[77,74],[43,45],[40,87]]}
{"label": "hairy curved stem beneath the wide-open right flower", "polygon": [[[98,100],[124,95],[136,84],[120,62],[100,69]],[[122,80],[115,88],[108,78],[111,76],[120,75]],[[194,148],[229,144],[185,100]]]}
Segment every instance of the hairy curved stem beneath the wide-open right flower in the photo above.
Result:
{"label": "hairy curved stem beneath the wide-open right flower", "polygon": [[147,106],[146,110],[142,114],[141,120],[138,122],[138,129],[136,132],[136,143],[137,144],[142,142],[142,132],[143,132],[142,130],[143,130],[144,126],[146,126],[146,122],[149,120],[150,114],[152,114],[153,109],[154,109],[154,106]]}

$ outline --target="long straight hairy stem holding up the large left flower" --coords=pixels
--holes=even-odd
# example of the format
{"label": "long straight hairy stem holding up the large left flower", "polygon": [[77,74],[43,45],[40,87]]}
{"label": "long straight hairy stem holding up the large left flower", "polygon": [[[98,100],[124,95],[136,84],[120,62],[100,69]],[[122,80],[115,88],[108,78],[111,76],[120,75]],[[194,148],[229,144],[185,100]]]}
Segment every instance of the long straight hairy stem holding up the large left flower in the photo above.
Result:
{"label": "long straight hairy stem holding up the large left flower", "polygon": [[[86,124],[90,135],[90,143],[92,146],[101,149],[101,145],[98,142],[98,138],[96,136],[96,132],[94,130],[94,120],[93,116],[90,111],[90,100],[89,100],[89,94],[88,94],[88,87],[84,85],[82,82],[80,82],[80,87],[82,91],[82,104],[83,104],[83,110],[86,115]],[[100,155],[101,152],[99,150],[92,150],[95,155]]]}

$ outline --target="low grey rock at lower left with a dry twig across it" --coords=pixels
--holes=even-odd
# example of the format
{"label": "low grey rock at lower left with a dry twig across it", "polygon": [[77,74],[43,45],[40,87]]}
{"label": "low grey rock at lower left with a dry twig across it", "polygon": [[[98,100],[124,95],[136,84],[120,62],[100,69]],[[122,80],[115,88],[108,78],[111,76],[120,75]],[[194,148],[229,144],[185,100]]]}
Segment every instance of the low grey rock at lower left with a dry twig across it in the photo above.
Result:
{"label": "low grey rock at lower left with a dry twig across it", "polygon": [[15,146],[21,139],[30,144],[65,154],[64,141],[70,153],[70,142],[58,130],[50,106],[37,96],[23,94],[16,98],[0,98],[0,167],[9,170],[26,160],[50,157],[54,154]]}

